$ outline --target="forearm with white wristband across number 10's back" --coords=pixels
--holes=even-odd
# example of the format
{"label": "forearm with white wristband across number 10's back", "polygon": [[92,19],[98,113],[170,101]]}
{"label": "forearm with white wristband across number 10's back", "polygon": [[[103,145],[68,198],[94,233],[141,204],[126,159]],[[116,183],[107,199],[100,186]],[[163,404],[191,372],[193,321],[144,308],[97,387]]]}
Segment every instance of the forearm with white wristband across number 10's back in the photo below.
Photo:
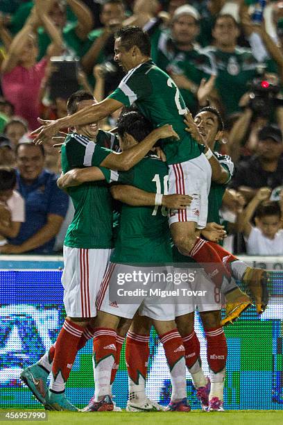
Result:
{"label": "forearm with white wristband across number 10's back", "polygon": [[192,200],[189,195],[182,194],[161,194],[160,199],[160,197],[156,197],[156,193],[146,192],[130,185],[113,185],[110,188],[110,192],[114,199],[127,203],[130,206],[162,205],[166,208],[184,210],[187,206],[191,205]]}

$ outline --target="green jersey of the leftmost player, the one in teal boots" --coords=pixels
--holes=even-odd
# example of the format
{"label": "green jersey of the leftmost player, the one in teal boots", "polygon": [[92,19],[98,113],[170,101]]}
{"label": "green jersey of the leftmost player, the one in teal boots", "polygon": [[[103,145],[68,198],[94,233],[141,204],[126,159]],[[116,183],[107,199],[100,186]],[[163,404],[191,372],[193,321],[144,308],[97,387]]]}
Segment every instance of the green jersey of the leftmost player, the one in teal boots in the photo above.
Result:
{"label": "green jersey of the leftmost player, the one in teal boots", "polygon": [[[63,172],[98,166],[111,153],[101,146],[113,146],[112,136],[99,131],[96,142],[93,142],[77,133],[67,135],[61,151]],[[75,248],[112,248],[112,197],[108,185],[105,182],[83,183],[67,192],[74,203],[75,214],[64,244]]]}

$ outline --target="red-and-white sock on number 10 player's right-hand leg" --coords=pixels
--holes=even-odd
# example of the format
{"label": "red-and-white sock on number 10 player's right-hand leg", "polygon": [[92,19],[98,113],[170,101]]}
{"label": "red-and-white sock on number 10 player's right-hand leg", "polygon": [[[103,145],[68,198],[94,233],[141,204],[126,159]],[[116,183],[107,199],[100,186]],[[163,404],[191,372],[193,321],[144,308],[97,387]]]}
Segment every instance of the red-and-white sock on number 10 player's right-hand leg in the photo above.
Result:
{"label": "red-and-white sock on number 10 player's right-hand leg", "polygon": [[172,394],[171,401],[187,398],[185,347],[178,329],[159,335],[169,366]]}

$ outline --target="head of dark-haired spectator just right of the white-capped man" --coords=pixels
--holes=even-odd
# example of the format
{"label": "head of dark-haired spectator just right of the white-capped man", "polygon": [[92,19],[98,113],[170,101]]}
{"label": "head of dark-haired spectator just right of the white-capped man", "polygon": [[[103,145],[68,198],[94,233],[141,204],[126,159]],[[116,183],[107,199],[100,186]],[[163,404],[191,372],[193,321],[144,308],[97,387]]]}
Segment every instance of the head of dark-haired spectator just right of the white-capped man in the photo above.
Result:
{"label": "head of dark-haired spectator just right of the white-capped man", "polygon": [[234,47],[240,35],[239,24],[232,15],[218,15],[212,35],[218,47]]}

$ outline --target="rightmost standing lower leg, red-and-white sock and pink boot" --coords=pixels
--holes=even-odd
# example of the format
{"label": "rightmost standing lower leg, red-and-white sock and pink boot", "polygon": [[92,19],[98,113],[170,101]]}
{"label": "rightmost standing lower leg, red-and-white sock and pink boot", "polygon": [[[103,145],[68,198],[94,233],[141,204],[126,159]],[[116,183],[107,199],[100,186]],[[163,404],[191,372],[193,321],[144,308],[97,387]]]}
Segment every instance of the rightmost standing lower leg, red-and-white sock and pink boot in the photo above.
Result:
{"label": "rightmost standing lower leg, red-and-white sock and pink boot", "polygon": [[200,318],[207,338],[207,363],[211,383],[208,410],[222,411],[227,342],[221,326],[221,310],[200,312]]}

